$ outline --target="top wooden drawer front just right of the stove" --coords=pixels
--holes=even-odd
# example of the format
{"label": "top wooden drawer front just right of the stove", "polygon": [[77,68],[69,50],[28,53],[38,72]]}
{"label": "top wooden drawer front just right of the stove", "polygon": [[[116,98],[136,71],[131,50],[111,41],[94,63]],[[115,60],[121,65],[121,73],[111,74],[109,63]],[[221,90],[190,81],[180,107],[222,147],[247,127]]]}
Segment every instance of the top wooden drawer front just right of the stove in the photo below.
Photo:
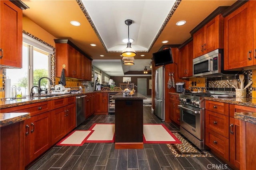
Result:
{"label": "top wooden drawer front just right of the stove", "polygon": [[227,115],[227,116],[229,115],[228,104],[226,104],[226,103],[206,100],[205,101],[205,109],[214,111],[214,112],[222,114],[222,115]]}

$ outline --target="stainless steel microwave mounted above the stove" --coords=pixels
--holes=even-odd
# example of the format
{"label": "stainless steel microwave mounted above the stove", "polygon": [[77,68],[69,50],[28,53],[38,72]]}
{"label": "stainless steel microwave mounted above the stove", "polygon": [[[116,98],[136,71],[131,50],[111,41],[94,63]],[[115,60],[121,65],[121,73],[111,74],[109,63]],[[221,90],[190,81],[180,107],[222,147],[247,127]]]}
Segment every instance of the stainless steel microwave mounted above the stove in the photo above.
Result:
{"label": "stainless steel microwave mounted above the stove", "polygon": [[193,76],[214,77],[234,75],[236,71],[225,71],[223,49],[216,49],[193,59]]}

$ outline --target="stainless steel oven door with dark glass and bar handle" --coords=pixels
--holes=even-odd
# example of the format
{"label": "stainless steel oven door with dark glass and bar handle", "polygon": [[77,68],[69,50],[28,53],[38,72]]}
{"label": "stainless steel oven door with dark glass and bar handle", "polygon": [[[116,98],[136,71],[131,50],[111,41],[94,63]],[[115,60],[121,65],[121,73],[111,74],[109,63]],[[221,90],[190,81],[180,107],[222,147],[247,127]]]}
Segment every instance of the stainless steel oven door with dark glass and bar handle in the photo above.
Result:
{"label": "stainless steel oven door with dark glass and bar handle", "polygon": [[180,126],[190,132],[199,140],[203,140],[203,109],[188,105],[179,105],[180,107]]}

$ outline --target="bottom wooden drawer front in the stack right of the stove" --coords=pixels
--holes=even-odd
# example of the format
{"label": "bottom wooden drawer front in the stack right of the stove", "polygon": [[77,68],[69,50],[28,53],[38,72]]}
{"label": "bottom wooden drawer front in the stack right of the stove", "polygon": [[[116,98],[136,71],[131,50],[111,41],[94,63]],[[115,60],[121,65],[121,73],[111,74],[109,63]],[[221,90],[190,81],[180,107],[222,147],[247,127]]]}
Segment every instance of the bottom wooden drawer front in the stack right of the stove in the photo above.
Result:
{"label": "bottom wooden drawer front in the stack right of the stove", "polygon": [[229,160],[229,140],[208,128],[205,129],[205,144],[224,159]]}

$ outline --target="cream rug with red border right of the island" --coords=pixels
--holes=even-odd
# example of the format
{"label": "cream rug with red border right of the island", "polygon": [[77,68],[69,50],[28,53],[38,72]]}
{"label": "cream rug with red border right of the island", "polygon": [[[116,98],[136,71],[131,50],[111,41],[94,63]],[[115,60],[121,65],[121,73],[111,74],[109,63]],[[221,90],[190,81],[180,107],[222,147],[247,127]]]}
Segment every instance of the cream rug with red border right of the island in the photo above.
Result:
{"label": "cream rug with red border right of the island", "polygon": [[181,143],[163,124],[144,124],[143,143]]}

